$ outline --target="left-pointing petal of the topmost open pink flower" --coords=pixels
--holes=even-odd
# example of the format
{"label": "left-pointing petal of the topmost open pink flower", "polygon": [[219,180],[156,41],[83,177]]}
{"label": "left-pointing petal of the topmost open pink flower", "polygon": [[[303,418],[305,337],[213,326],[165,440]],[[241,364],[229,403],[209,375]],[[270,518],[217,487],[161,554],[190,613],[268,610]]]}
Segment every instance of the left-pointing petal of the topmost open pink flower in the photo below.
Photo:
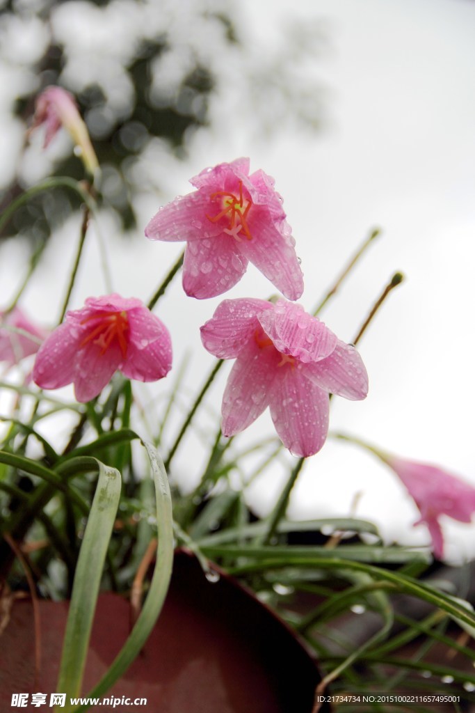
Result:
{"label": "left-pointing petal of the topmost open pink flower", "polygon": [[145,228],[150,240],[207,240],[221,235],[221,225],[208,219],[209,193],[194,191],[164,205]]}

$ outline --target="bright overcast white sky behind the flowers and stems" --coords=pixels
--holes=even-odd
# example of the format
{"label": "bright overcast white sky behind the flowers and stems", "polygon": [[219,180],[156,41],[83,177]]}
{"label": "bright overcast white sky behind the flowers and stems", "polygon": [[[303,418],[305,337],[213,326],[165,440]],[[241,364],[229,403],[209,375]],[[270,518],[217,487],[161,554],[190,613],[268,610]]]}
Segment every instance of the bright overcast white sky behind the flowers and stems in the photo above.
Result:
{"label": "bright overcast white sky behind the flowers and stems", "polygon": [[[286,0],[246,0],[239,7],[238,29],[253,48],[256,69],[282,40],[288,19],[323,28],[328,41],[305,72],[323,85],[327,126],[315,134],[289,126],[264,138],[259,115],[239,93],[239,76],[232,66],[224,68],[229,86],[214,105],[213,133],[197,133],[183,165],[169,162],[164,195],[141,206],[144,225],[161,202],[187,193],[188,178],[204,166],[249,155],[251,170],[273,175],[283,195],[306,277],[301,302],[309,310],[369,230],[381,226],[383,235],[322,318],[349,341],[392,273],[401,270],[407,280],[360,343],[370,395],[363,402],[333,399],[330,429],[438,463],[475,486],[475,2],[299,0],[289,10]],[[158,159],[162,166],[167,161]],[[101,230],[110,242],[115,289],[147,300],[179,246],[149,243],[139,232],[131,271],[130,244],[113,242],[115,227],[108,222]],[[53,239],[25,295],[26,309],[44,323],[48,311],[56,319],[64,292],[53,292],[51,275],[58,274],[58,261],[71,265],[75,240],[71,226]],[[25,254],[14,242],[1,251],[1,304],[14,291]],[[11,270],[11,259],[18,270]],[[250,266],[226,297],[265,299],[272,291]],[[90,240],[71,306],[103,292]],[[197,327],[220,300],[186,299],[174,284],[158,312],[172,332],[175,364],[184,349],[192,349],[189,389],[213,364]],[[221,379],[216,410],[222,386]],[[249,442],[271,434],[268,414],[249,431]],[[177,474],[191,479],[199,474],[190,468],[193,448],[190,441],[175,465]],[[268,510],[282,478],[281,472],[269,473],[255,483],[249,497],[256,509]],[[361,493],[355,514],[374,520],[388,541],[428,543],[424,526],[411,527],[417,510],[396,477],[345,443],[328,441],[306,464],[290,512],[296,518],[345,516],[355,493]],[[474,555],[475,525],[450,523],[445,532],[449,560]]]}

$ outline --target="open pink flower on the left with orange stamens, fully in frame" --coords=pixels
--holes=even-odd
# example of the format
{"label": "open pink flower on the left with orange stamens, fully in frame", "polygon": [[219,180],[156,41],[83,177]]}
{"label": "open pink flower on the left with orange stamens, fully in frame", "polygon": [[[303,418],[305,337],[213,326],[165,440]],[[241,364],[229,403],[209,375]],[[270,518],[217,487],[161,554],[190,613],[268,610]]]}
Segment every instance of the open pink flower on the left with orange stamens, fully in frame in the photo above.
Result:
{"label": "open pink flower on the left with orange stamens, fully in frame", "polygon": [[140,299],[118,294],[89,297],[66,314],[39,350],[33,381],[43,389],[74,384],[78,401],[90,401],[119,369],[129,379],[156,381],[172,366],[167,328]]}

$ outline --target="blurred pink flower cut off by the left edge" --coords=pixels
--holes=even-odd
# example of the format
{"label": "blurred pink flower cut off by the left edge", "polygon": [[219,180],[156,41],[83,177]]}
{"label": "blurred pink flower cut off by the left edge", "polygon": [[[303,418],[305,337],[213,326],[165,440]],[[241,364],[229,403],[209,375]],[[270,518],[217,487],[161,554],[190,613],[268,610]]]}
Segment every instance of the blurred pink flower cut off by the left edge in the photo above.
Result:
{"label": "blurred pink flower cut off by the left edge", "polygon": [[[21,332],[16,332],[17,329]],[[25,332],[31,334],[32,339]],[[18,364],[25,356],[36,354],[45,338],[46,331],[36,327],[20,307],[14,307],[11,312],[0,312],[0,361],[6,361],[10,366]]]}

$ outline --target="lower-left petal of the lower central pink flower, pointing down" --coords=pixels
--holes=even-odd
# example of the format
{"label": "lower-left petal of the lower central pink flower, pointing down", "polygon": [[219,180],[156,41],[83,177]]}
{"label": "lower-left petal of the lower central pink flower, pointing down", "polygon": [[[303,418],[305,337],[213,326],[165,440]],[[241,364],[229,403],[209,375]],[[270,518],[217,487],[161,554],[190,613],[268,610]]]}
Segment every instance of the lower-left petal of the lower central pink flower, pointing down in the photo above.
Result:
{"label": "lower-left petal of the lower central pink flower, pointing down", "polygon": [[221,431],[234,436],[244,431],[268,405],[280,355],[273,347],[261,349],[252,339],[231,369],[221,408]]}

